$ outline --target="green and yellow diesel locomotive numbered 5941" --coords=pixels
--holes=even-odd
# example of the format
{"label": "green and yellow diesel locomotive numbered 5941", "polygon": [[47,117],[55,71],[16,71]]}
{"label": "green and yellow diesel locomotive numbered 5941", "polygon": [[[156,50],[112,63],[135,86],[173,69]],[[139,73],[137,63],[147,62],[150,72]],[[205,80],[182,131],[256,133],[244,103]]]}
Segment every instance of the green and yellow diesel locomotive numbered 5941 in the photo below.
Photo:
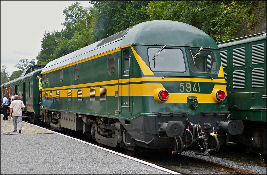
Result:
{"label": "green and yellow diesel locomotive numbered 5941", "polygon": [[200,146],[209,155],[243,131],[229,118],[217,44],[185,23],[140,23],[49,62],[41,76],[44,123],[128,154]]}

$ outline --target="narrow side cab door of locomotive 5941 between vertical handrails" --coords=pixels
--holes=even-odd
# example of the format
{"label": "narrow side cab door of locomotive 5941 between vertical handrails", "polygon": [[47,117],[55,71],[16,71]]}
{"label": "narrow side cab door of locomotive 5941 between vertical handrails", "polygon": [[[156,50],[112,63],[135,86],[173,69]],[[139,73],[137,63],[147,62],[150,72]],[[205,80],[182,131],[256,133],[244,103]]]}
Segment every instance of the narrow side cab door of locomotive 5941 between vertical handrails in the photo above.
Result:
{"label": "narrow side cab door of locomotive 5941 between vertical handrails", "polygon": [[122,57],[120,60],[120,70],[121,76],[118,76],[119,80],[119,101],[118,109],[121,112],[121,117],[127,117],[132,114],[132,96],[130,88],[131,83],[131,63],[132,63],[132,54],[129,49],[122,50]]}

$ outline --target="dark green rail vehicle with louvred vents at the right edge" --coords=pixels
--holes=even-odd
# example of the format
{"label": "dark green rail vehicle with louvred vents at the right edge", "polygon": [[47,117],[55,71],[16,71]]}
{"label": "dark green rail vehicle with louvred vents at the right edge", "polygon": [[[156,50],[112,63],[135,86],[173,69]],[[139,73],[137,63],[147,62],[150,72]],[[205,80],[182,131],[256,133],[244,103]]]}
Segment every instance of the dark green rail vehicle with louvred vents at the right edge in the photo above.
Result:
{"label": "dark green rail vehicle with louvred vents at the right edge", "polygon": [[231,119],[243,120],[247,152],[266,154],[266,32],[235,40],[218,43]]}

